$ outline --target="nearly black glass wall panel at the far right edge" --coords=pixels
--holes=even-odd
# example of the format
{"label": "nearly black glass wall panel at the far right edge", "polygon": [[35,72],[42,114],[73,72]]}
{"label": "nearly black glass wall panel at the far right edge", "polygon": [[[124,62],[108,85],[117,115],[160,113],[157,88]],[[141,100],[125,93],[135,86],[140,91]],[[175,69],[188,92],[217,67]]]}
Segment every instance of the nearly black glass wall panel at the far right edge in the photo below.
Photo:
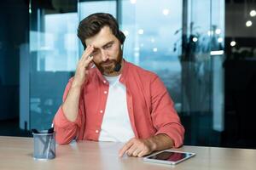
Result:
{"label": "nearly black glass wall panel at the far right edge", "polygon": [[256,149],[256,1],[225,2],[224,146]]}

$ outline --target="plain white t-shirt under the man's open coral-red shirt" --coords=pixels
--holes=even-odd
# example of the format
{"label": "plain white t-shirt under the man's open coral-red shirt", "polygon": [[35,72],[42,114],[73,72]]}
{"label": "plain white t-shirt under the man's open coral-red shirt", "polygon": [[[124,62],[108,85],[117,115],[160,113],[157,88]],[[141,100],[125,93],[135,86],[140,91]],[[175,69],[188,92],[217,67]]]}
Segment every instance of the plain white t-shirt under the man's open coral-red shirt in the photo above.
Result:
{"label": "plain white t-shirt under the man's open coral-red shirt", "polygon": [[127,109],[126,88],[119,77],[105,77],[109,89],[99,141],[127,142],[135,136]]}

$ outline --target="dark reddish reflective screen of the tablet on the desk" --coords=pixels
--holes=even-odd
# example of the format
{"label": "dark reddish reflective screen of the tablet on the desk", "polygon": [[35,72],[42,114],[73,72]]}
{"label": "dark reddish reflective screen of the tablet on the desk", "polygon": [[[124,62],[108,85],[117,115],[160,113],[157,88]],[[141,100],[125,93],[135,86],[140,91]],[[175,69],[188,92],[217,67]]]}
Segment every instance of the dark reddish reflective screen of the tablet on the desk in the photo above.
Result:
{"label": "dark reddish reflective screen of the tablet on the desk", "polygon": [[154,156],[149,156],[148,159],[156,159],[162,161],[180,161],[183,158],[192,156],[190,153],[179,153],[179,152],[171,152],[171,151],[163,151]]}

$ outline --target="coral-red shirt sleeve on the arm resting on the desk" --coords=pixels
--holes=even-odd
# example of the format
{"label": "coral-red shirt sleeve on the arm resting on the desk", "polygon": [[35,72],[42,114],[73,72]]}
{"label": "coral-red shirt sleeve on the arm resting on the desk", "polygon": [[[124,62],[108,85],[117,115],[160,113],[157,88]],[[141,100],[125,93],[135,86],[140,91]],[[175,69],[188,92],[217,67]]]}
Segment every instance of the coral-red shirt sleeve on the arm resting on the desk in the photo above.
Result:
{"label": "coral-red shirt sleeve on the arm resting on the desk", "polygon": [[173,101],[159,77],[151,82],[152,121],[157,129],[155,135],[164,133],[174,142],[174,147],[183,145],[184,127],[180,122]]}

